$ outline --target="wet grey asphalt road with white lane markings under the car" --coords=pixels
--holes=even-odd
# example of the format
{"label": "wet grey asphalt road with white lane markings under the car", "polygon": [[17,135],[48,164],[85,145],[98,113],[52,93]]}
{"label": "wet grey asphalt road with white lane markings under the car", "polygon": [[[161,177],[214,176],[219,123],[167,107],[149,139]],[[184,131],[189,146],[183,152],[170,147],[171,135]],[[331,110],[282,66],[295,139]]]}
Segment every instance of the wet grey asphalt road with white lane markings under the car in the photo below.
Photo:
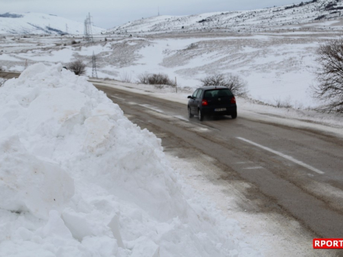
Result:
{"label": "wet grey asphalt road with white lane markings under the car", "polygon": [[246,197],[257,206],[244,206],[248,212],[279,212],[313,236],[343,238],[342,138],[240,117],[239,106],[237,119],[200,122],[187,117],[184,104],[95,86],[128,119],[158,135],[165,151],[210,156],[224,171],[222,180],[248,182]]}

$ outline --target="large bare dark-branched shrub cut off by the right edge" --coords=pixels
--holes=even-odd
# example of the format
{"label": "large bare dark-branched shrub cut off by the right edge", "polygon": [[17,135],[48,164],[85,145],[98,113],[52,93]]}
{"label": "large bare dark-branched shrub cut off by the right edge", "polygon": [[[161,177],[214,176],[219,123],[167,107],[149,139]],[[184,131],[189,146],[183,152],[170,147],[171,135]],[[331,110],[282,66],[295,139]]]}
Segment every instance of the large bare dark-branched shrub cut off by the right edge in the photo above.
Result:
{"label": "large bare dark-branched shrub cut off by the right edge", "polygon": [[318,84],[312,86],[314,97],[325,102],[324,112],[343,112],[343,38],[330,40],[317,49]]}

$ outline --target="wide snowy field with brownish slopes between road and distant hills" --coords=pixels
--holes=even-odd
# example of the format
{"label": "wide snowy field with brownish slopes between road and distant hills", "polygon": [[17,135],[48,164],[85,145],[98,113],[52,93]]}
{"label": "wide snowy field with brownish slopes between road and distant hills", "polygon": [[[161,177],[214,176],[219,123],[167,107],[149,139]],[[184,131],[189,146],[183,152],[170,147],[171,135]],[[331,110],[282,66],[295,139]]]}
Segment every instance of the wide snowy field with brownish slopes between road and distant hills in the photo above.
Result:
{"label": "wide snowy field with brownish slopes between road and distant hills", "polygon": [[[248,97],[298,109],[319,106],[310,86],[316,83],[316,49],[336,32],[270,32],[233,34],[189,32],[145,36],[95,36],[84,42],[75,36],[5,36],[0,38],[0,66],[23,71],[43,62],[48,66],[73,60],[87,64],[92,75],[92,55],[99,78],[137,82],[143,73],[167,73],[180,88],[201,86],[200,79],[213,73],[239,75]],[[71,45],[71,41],[81,41]]]}

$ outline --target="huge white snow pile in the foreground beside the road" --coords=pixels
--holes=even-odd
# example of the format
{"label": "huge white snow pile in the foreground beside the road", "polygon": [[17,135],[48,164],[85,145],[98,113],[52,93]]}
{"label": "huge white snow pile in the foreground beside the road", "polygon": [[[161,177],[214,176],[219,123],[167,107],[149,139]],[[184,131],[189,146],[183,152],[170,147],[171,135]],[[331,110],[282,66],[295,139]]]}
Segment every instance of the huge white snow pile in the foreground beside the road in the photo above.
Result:
{"label": "huge white snow pile in the foreground beside the road", "polygon": [[34,64],[0,88],[0,256],[259,256],[200,202],[86,77]]}

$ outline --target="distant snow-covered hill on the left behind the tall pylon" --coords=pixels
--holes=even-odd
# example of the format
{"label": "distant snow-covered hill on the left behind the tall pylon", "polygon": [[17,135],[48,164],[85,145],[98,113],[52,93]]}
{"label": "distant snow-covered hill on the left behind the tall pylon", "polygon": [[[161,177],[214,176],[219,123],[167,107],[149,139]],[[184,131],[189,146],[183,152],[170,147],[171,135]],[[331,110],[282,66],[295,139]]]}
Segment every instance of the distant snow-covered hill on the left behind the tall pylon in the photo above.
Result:
{"label": "distant snow-covered hill on the left behind the tall pylon", "polygon": [[[86,19],[86,14],[84,16]],[[93,34],[100,34],[104,30],[92,26]],[[84,23],[52,14],[34,12],[0,14],[0,34],[66,34],[67,32],[83,34]]]}

